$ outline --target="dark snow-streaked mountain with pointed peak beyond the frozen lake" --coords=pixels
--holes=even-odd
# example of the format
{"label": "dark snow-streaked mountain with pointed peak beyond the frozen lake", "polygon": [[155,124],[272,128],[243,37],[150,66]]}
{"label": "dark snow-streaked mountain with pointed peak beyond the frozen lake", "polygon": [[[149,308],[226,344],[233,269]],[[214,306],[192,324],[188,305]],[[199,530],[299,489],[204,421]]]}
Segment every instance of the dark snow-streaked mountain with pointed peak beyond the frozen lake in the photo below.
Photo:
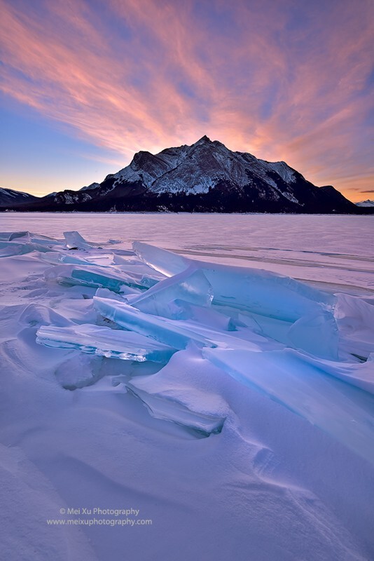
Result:
{"label": "dark snow-streaked mountain with pointed peak beyond the frozen lake", "polygon": [[359,212],[339,191],[315,187],[285,162],[230,151],[206,136],[155,155],[140,151],[101,184],[51,194],[18,210]]}

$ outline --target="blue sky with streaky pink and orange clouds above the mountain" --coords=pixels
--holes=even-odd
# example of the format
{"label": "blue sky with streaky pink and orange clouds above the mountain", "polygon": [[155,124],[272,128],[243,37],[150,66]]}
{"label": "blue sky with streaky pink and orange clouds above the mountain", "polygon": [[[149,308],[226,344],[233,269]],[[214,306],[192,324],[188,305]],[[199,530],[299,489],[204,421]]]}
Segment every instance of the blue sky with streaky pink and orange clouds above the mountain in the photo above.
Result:
{"label": "blue sky with streaky pink and orange clouds above the mountain", "polygon": [[374,198],[373,0],[0,0],[0,186],[193,144]]}

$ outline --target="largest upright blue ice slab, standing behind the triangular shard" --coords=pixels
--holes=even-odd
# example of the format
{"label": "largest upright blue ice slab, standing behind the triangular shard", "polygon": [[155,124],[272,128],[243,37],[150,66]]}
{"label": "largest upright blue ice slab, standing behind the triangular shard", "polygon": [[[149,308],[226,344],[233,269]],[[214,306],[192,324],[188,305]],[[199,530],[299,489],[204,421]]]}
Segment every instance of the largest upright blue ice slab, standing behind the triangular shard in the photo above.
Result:
{"label": "largest upright blue ice slab, standing behind the triangular shard", "polygon": [[335,298],[325,292],[269,271],[198,262],[146,243],[134,242],[133,248],[146,264],[168,276],[193,264],[212,285],[214,304],[296,321],[335,303]]}

